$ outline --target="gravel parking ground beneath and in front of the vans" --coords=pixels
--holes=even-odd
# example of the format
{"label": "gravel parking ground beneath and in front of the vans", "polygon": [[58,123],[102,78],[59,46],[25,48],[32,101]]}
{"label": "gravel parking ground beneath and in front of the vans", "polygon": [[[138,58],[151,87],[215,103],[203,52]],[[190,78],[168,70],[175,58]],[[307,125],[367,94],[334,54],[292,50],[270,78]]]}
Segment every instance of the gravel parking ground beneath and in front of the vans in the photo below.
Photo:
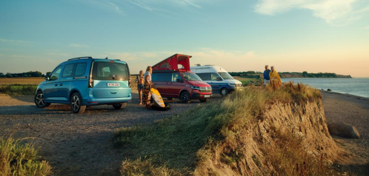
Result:
{"label": "gravel parking ground beneath and in front of the vans", "polygon": [[[124,156],[112,146],[115,129],[152,123],[203,104],[199,100],[188,104],[178,99],[165,100],[171,110],[157,111],[138,105],[134,91],[132,96],[124,109],[100,105],[73,114],[68,105],[38,108],[33,96],[1,95],[0,135],[34,137],[32,142],[39,147],[39,155],[50,162],[56,175],[118,175]],[[210,101],[216,99],[221,96],[214,95]]]}

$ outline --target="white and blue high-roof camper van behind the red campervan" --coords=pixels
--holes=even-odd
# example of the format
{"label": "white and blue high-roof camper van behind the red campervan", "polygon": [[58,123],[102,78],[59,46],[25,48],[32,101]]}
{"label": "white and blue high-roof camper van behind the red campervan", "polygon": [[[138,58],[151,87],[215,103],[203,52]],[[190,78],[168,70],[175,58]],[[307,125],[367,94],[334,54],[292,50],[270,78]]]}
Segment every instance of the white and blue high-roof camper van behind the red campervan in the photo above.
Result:
{"label": "white and blue high-roof camper van behind the red campervan", "polygon": [[197,64],[196,67],[191,67],[190,69],[204,82],[210,84],[213,93],[219,93],[224,96],[229,92],[244,88],[239,80],[235,80],[227,71],[219,66],[201,66]]}

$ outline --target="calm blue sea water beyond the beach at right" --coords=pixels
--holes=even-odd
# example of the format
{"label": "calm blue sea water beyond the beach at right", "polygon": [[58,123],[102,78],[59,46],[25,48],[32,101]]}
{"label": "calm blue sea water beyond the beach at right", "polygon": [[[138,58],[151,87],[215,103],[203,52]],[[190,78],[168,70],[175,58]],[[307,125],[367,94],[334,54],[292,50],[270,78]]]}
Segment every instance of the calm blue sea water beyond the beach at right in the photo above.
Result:
{"label": "calm blue sea water beyond the beach at right", "polygon": [[369,78],[283,78],[282,82],[308,84],[316,89],[331,89],[369,98]]}

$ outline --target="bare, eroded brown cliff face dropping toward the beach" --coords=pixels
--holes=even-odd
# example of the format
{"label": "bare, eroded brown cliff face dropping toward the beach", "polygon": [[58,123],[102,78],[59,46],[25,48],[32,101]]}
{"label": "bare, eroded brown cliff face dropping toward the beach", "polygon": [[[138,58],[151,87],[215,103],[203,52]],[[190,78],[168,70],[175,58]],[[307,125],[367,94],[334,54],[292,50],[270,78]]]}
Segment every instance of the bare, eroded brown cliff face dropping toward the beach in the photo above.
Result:
{"label": "bare, eroded brown cliff face dropping toward the beach", "polygon": [[320,98],[268,104],[234,138],[210,151],[195,175],[297,174],[315,169],[309,162],[330,162],[342,151],[328,132]]}

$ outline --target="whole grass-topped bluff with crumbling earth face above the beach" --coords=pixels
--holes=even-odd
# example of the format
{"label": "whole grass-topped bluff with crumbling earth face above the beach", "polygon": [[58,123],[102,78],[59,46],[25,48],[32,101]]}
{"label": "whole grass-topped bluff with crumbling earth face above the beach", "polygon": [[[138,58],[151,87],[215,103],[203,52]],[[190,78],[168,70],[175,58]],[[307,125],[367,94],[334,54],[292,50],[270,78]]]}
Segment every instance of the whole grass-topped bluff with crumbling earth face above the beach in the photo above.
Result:
{"label": "whole grass-topped bluff with crumbling earth face above the beach", "polygon": [[[201,113],[199,113],[201,112]],[[122,175],[331,175],[342,151],[318,90],[248,87],[152,125],[118,129]]]}

